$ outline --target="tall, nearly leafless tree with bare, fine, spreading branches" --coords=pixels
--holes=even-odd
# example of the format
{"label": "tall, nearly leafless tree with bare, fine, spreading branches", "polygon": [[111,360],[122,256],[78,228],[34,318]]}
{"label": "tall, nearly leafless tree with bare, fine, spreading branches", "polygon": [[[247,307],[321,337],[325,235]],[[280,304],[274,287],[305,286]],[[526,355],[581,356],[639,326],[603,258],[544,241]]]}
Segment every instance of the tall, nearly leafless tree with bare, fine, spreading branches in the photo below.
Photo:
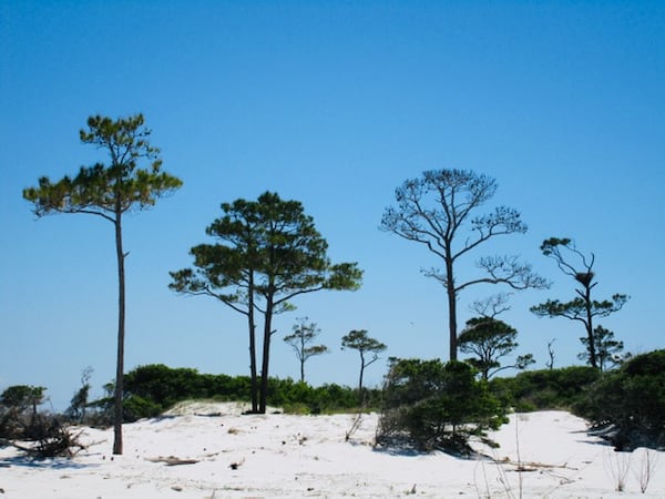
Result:
{"label": "tall, nearly leafless tree with bare, fine, spreading branches", "polygon": [[475,284],[504,284],[513,289],[542,288],[548,283],[515,256],[485,256],[477,263],[484,275],[457,282],[459,259],[499,235],[523,234],[520,213],[498,206],[474,216],[477,208],[497,192],[497,181],[466,170],[432,170],[421,179],[406,181],[395,191],[397,206],[383,213],[380,227],[407,241],[424,245],[443,261],[444,268],[426,272],[448,294],[450,359],[457,359],[457,301],[460,292]]}

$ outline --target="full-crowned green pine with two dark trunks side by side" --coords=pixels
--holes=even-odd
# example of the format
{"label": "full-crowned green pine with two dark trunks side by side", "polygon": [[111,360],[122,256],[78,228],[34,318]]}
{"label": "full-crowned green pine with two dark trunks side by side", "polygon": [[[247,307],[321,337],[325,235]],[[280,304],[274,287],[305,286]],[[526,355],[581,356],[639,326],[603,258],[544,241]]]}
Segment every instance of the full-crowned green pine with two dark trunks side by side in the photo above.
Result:
{"label": "full-crowned green pine with two dark trunks side by side", "polygon": [[328,243],[298,201],[265,192],[257,201],[224,203],[222,211],[206,230],[219,243],[193,247],[195,268],[172,272],[170,287],[212,296],[247,316],[254,387],[255,314],[264,317],[260,399],[256,407],[253,396],[253,410],[265,413],[273,316],[293,309],[290,301],[301,294],[357,289],[362,272],[356,263],[330,263]]}

